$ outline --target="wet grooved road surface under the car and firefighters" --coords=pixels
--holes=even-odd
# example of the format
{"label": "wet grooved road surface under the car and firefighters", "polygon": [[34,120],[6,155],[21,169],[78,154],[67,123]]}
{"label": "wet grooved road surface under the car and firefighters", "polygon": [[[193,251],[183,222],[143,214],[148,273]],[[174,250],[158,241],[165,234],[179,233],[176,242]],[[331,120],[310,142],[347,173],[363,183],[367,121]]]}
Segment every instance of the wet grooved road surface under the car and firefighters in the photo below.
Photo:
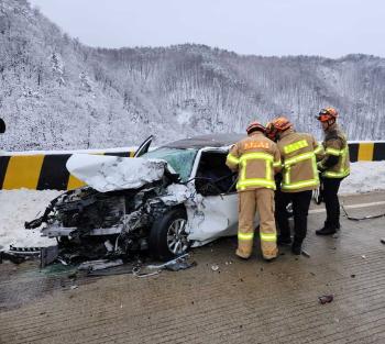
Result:
{"label": "wet grooved road surface under the car and firefighters", "polygon": [[[344,199],[376,201],[385,193]],[[283,247],[273,263],[257,242],[250,260],[237,259],[235,238],[194,249],[194,268],[146,278],[3,263],[0,343],[385,343],[385,218],[342,218],[339,237],[317,237],[323,218],[309,215],[310,257]],[[324,295],[333,301],[320,304]]]}

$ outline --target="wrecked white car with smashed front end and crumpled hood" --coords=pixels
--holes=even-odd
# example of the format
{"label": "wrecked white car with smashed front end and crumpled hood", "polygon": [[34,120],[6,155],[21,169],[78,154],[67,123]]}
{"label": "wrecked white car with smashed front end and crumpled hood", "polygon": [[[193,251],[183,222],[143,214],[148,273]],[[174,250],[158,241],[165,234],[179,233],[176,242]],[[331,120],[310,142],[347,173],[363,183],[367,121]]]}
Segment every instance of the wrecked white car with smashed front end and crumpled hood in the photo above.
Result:
{"label": "wrecked white car with smashed front end and crumpled hood", "polygon": [[43,224],[43,235],[87,258],[148,251],[167,259],[234,235],[237,174],[226,157],[242,137],[196,136],[152,152],[148,137],[135,158],[74,155],[67,168],[87,187],[61,195],[25,228]]}

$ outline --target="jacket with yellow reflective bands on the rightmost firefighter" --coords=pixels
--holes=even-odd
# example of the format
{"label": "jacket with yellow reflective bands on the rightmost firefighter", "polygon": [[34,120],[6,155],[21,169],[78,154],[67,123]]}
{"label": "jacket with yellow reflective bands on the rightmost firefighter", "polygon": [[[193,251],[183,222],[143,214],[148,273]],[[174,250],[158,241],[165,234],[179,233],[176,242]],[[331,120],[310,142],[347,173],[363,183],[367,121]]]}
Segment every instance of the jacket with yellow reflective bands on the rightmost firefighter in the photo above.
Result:
{"label": "jacket with yellow reflective bands on the rightmost firefighter", "polygon": [[[346,136],[339,130],[338,125],[331,126],[324,135],[322,143],[326,156],[318,163],[324,178],[344,178],[350,174],[350,156]],[[338,163],[333,166],[324,166],[323,164],[330,156],[337,156]]]}

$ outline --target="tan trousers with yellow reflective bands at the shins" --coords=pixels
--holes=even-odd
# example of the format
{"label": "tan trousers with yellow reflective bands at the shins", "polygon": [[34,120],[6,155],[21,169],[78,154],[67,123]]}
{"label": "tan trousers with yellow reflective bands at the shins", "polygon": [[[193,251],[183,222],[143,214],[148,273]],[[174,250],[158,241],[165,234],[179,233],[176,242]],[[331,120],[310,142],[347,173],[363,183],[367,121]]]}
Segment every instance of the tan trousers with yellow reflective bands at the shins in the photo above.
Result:
{"label": "tan trousers with yellow reflective bands at the shins", "polygon": [[249,258],[253,251],[255,212],[260,215],[260,238],[265,259],[277,256],[277,235],[274,220],[274,191],[266,188],[240,191],[237,255]]}

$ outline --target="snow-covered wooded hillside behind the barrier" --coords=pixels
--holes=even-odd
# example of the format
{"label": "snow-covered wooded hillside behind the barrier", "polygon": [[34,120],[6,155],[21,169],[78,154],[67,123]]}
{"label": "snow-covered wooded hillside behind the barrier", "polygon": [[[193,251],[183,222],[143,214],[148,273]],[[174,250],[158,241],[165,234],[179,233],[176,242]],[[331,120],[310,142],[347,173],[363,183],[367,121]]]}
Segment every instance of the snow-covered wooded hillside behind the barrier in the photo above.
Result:
{"label": "snow-covered wooded hillside behind the barrier", "polygon": [[[134,33],[131,33],[134,34]],[[383,138],[385,59],[261,57],[202,45],[91,48],[26,0],[0,1],[0,148],[100,148],[198,133],[243,132],[287,114],[319,135],[314,115],[342,114],[350,140]]]}

